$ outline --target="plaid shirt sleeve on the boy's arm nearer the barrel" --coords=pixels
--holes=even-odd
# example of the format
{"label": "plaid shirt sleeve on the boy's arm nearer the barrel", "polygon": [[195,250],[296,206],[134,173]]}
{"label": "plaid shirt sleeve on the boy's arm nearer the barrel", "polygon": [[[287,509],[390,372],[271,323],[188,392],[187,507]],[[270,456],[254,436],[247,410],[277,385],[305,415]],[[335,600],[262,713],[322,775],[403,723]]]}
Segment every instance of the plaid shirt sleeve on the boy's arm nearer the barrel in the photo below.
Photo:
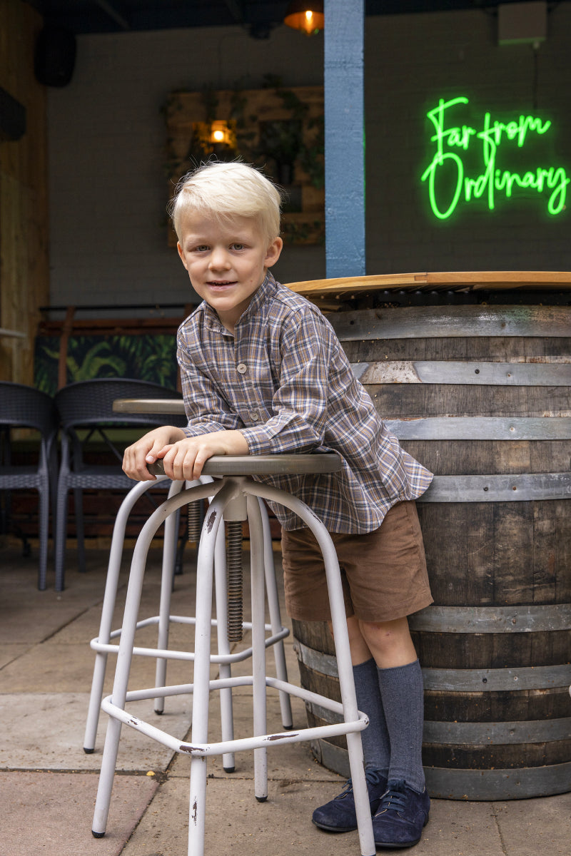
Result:
{"label": "plaid shirt sleeve on the boy's arm nearer the barrel", "polygon": [[289,318],[280,337],[279,383],[271,418],[241,429],[251,455],[307,452],[323,445],[335,336],[314,312]]}

